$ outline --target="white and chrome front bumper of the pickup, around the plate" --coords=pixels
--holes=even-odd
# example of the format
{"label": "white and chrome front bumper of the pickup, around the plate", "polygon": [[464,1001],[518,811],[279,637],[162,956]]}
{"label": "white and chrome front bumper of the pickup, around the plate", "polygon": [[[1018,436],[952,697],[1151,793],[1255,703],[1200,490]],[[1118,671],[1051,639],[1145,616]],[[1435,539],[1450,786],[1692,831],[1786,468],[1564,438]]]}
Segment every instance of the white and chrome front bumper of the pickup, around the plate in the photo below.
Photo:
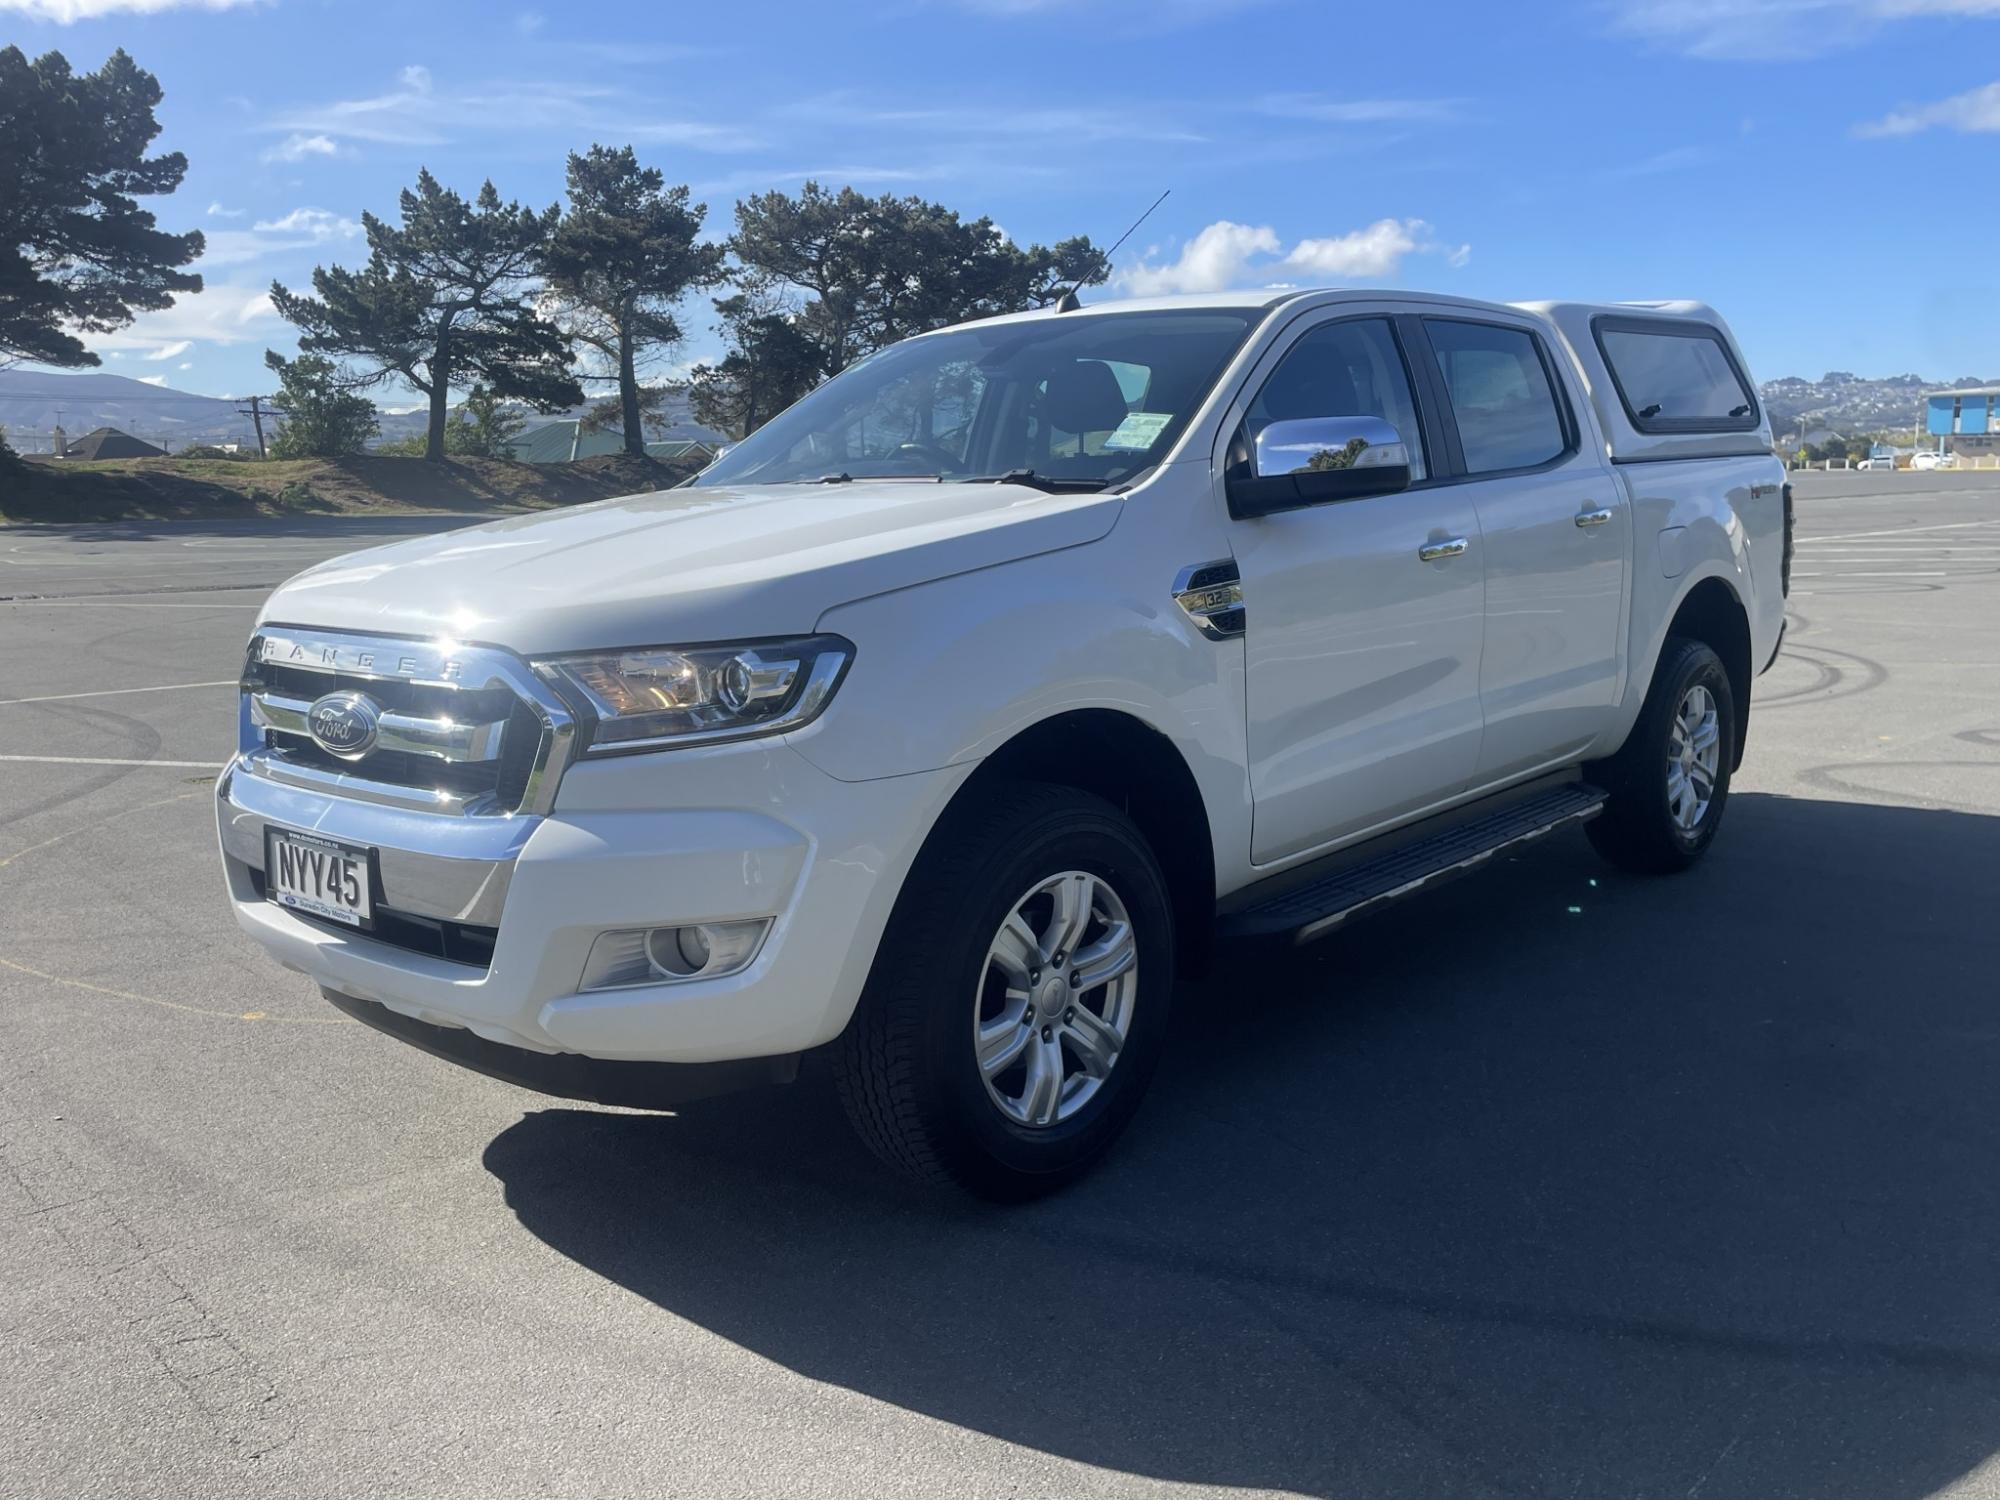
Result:
{"label": "white and chrome front bumper of the pickup, around the plate", "polygon": [[[840,1034],[902,878],[966,774],[838,782],[784,740],[748,740],[584,760],[544,816],[466,818],[232,766],[216,782],[216,816],[238,924],[324,990],[526,1052],[708,1064],[782,1058]],[[262,900],[272,824],[378,850],[382,904],[490,930],[490,964]],[[578,992],[604,930],[744,918],[772,918],[772,930],[740,974]]]}

